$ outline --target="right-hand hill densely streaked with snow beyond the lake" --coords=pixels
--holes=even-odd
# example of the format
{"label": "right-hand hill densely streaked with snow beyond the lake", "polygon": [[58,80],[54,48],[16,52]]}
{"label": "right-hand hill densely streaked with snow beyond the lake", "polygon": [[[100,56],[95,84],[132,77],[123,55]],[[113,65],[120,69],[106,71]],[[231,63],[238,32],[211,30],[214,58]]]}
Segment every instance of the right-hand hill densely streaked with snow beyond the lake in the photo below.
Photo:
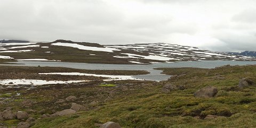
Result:
{"label": "right-hand hill densely streaked with snow beyond the lake", "polygon": [[177,44],[150,43],[150,44],[129,44],[129,45],[105,45],[121,51],[130,50],[148,55],[121,53],[116,58],[144,58],[157,59],[162,61],[198,61],[198,60],[255,60],[253,57],[243,55],[231,55],[224,52],[201,50],[197,47],[182,46]]}

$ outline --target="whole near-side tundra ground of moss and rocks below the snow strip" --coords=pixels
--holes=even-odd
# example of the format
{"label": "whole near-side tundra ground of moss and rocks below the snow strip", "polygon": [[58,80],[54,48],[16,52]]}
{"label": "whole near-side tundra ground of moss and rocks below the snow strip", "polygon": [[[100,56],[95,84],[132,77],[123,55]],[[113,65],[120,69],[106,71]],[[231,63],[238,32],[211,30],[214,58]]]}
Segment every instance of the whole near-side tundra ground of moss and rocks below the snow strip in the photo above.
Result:
{"label": "whole near-side tundra ground of moss and rocks below the snow strip", "polygon": [[256,66],[159,69],[173,76],[1,89],[2,112],[28,114],[1,123],[17,126],[31,117],[31,127],[256,127]]}

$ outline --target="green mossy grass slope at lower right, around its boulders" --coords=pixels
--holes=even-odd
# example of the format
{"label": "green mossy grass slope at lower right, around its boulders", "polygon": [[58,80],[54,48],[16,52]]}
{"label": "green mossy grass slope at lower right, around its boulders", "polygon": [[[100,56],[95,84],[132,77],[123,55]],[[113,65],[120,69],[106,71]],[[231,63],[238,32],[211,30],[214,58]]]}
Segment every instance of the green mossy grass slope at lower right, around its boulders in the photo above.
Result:
{"label": "green mossy grass slope at lower right, around its boulders", "polygon": [[[256,87],[237,88],[243,77],[256,81],[256,66],[165,68],[164,73],[179,76],[167,82],[126,86],[125,90],[120,86],[119,90],[116,86],[96,87],[116,90],[114,95],[118,96],[95,103],[89,111],[38,119],[33,127],[98,127],[108,121],[122,127],[256,127]],[[166,83],[186,89],[163,93]],[[216,97],[194,97],[194,92],[210,85],[218,88]],[[218,117],[204,119],[207,115]]]}

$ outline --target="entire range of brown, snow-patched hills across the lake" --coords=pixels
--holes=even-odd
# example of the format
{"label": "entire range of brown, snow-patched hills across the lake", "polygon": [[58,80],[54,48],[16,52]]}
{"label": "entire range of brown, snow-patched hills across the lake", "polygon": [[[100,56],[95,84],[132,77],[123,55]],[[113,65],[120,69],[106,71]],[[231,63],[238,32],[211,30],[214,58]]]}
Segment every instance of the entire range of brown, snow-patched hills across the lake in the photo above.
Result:
{"label": "entire range of brown, snow-patched hills across the lake", "polygon": [[201,50],[197,47],[166,43],[100,45],[96,43],[55,42],[0,43],[3,59],[59,60],[89,63],[156,63],[173,61],[239,60],[254,57]]}

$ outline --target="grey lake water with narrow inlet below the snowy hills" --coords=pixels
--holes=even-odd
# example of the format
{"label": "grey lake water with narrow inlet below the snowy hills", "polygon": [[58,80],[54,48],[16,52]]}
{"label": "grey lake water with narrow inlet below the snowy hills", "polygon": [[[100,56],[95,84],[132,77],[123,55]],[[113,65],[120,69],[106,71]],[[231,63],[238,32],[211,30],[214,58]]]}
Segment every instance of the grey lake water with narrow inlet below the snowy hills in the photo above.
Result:
{"label": "grey lake water with narrow inlet below the snowy hills", "polygon": [[[11,66],[49,66],[49,67],[67,67],[77,69],[90,70],[147,70],[150,74],[137,75],[134,78],[146,79],[151,81],[165,81],[170,78],[170,75],[161,74],[161,70],[154,68],[180,68],[180,67],[195,67],[195,68],[215,68],[223,65],[256,65],[256,61],[184,61],[173,63],[154,63],[152,65],[115,65],[115,64],[99,64],[99,63],[74,63],[74,62],[52,62],[52,61],[18,61],[11,62],[23,65]],[[10,65],[9,65],[10,66]]]}

